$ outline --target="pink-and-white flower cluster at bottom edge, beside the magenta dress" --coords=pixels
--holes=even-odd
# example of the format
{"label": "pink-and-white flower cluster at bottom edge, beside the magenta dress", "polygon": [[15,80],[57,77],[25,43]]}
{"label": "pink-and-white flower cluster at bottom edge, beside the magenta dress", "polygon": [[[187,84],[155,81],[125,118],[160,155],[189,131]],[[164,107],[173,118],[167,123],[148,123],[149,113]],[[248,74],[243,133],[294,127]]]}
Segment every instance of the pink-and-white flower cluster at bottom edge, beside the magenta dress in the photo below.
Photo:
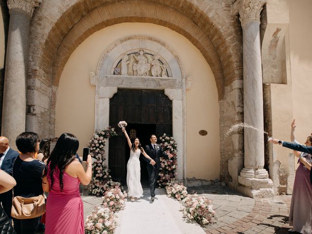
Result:
{"label": "pink-and-white flower cluster at bottom edge, beside the magenta dress", "polygon": [[117,227],[117,216],[109,208],[95,207],[87,216],[85,234],[113,234]]}

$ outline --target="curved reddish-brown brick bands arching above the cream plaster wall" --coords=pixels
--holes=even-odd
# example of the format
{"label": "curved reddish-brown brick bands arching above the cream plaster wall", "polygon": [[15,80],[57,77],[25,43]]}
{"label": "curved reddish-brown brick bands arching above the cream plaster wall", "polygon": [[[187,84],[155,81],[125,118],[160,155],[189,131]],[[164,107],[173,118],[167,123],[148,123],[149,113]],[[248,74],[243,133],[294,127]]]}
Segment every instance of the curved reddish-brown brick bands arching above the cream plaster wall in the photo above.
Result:
{"label": "curved reddish-brown brick bands arching above the cream plaster wall", "polygon": [[[39,55],[34,55],[35,61],[30,61],[30,76],[57,87],[63,67],[77,46],[94,32],[121,22],[155,23],[189,39],[214,73],[219,100],[223,99],[225,82],[237,78],[238,66],[234,61],[240,59],[234,59],[235,54],[227,48],[225,38],[231,37],[224,37],[220,27],[217,28],[217,24],[190,0],[97,0],[92,4],[89,0],[80,0],[62,13],[44,44],[37,48]],[[33,64],[37,66],[32,67]]]}

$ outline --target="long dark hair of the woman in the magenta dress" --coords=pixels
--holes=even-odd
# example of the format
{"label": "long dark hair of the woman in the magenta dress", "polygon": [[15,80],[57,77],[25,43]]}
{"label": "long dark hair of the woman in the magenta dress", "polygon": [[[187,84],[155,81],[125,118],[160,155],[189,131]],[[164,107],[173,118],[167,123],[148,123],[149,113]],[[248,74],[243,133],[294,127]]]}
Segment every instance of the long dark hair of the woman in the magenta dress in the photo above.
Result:
{"label": "long dark hair of the woman in the magenta dress", "polygon": [[[53,187],[53,174],[55,169],[59,168],[59,187],[63,190],[63,172],[65,167],[75,160],[75,155],[79,147],[77,137],[70,133],[60,135],[51,155],[48,158],[47,166],[50,167],[51,189]],[[47,170],[45,170],[46,174]]]}

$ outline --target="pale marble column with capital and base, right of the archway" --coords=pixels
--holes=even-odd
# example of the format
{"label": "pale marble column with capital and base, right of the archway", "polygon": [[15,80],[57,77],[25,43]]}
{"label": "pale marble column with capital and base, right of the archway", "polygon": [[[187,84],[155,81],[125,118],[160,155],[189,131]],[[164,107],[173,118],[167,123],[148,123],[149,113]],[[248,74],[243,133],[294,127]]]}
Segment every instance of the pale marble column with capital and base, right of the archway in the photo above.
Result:
{"label": "pale marble column with capital and base, right of the archway", "polygon": [[243,28],[244,168],[238,176],[240,191],[251,197],[273,196],[273,182],[264,166],[263,94],[260,50],[260,12],[264,1],[242,0],[239,20]]}

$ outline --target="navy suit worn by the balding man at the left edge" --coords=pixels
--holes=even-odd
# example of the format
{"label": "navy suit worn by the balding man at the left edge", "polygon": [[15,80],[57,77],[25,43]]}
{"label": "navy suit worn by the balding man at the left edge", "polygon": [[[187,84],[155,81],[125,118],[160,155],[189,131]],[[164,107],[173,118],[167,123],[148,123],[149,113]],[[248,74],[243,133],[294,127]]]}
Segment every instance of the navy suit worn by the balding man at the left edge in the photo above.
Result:
{"label": "navy suit worn by the balding man at the left edge", "polygon": [[[10,148],[5,156],[2,156],[4,159],[1,164],[1,170],[12,176],[13,164],[17,156],[19,156],[19,153]],[[11,217],[12,191],[11,189],[6,193],[0,194],[0,203],[2,203],[3,210],[8,217]]]}

